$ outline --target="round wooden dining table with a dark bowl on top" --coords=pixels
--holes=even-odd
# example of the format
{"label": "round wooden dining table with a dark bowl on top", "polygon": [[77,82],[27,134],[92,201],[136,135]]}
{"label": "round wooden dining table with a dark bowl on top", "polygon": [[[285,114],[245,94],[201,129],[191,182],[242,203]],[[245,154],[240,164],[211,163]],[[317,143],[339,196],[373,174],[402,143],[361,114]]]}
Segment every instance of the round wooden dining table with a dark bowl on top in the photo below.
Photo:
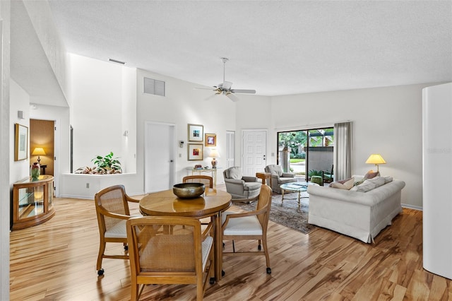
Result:
{"label": "round wooden dining table with a dark bowl on top", "polygon": [[208,189],[196,199],[179,199],[172,189],[144,196],[140,201],[143,216],[186,216],[213,219],[215,280],[222,277],[222,230],[221,213],[232,204],[232,196],[226,191]]}

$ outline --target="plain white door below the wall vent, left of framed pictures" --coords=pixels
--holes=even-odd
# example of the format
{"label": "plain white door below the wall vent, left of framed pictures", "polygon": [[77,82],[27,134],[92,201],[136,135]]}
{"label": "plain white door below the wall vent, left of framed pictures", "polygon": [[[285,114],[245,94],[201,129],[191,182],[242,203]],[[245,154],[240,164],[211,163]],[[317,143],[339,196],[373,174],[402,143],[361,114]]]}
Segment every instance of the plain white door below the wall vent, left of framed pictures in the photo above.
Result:
{"label": "plain white door below the wall vent, left of framed pictures", "polygon": [[174,185],[174,124],[145,123],[145,193]]}

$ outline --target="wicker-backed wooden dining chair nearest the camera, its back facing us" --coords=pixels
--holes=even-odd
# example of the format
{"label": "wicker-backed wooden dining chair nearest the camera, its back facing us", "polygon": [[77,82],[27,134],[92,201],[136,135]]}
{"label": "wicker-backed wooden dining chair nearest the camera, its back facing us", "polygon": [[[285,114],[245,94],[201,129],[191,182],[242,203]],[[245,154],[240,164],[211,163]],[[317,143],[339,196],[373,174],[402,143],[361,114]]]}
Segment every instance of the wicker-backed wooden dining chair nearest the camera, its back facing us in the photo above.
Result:
{"label": "wicker-backed wooden dining chair nearest the camera, its back facing us", "polygon": [[[201,233],[196,218],[145,216],[127,220],[131,269],[131,300],[146,284],[196,284],[203,300],[213,271],[213,228]],[[171,229],[160,231],[159,229]]]}

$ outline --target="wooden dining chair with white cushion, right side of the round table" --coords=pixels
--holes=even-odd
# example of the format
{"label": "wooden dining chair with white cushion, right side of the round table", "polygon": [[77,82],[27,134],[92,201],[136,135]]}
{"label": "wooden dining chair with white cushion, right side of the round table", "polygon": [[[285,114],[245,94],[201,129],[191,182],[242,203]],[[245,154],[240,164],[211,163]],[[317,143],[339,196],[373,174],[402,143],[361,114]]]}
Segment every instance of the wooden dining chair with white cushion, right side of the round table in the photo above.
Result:
{"label": "wooden dining chair with white cushion, right side of the round table", "polygon": [[[255,211],[245,213],[226,211],[222,213],[222,239],[232,240],[232,252],[223,251],[223,256],[266,256],[267,273],[271,273],[270,256],[267,247],[267,226],[270,216],[271,197],[271,188],[267,185],[262,185]],[[234,240],[258,240],[258,251],[236,252]]]}

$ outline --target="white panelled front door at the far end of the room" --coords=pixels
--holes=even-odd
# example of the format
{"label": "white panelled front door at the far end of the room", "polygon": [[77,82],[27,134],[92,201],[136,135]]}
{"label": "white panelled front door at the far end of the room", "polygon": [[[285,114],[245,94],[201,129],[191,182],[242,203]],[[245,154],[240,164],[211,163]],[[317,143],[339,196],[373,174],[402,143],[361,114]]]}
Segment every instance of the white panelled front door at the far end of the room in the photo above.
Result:
{"label": "white panelled front door at the far end of the room", "polygon": [[263,172],[266,167],[267,131],[242,131],[242,171],[243,175],[252,176]]}

